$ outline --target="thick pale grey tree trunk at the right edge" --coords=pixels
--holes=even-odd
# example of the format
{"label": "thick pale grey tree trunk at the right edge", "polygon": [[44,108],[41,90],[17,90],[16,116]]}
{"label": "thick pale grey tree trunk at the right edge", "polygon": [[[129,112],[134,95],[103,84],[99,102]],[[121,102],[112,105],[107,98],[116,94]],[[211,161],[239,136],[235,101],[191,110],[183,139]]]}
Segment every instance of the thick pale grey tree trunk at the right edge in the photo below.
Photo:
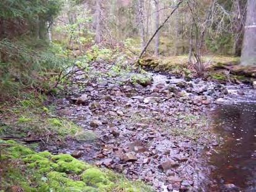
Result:
{"label": "thick pale grey tree trunk at the right edge", "polygon": [[256,0],[247,1],[241,65],[256,65]]}

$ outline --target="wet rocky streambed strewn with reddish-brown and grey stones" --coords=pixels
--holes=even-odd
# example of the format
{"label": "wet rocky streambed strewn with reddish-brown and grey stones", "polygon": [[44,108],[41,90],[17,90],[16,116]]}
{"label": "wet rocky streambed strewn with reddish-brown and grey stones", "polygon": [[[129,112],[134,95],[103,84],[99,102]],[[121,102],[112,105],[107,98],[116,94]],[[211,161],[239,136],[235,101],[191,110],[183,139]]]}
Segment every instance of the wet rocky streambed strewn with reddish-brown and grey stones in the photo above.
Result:
{"label": "wet rocky streambed strewn with reddish-brown and grey stones", "polygon": [[79,95],[56,99],[58,114],[85,131],[78,140],[41,150],[70,153],[143,180],[156,191],[207,191],[211,168],[216,168],[208,158],[224,142],[211,126],[211,109],[254,91],[158,73],[151,77],[147,86],[119,85],[118,78],[85,81]]}

